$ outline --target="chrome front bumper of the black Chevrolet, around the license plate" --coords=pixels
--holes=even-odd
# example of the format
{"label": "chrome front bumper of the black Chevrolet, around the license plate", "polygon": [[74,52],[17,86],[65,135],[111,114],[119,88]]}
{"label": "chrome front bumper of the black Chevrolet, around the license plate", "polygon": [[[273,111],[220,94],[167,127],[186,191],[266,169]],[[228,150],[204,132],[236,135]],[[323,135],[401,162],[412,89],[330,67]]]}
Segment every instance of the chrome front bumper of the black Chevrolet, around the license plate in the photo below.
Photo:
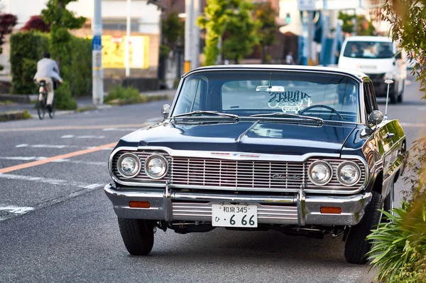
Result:
{"label": "chrome front bumper of the black Chevrolet, around the license plate", "polygon": [[[186,221],[212,221],[212,204],[244,203],[257,205],[258,223],[277,225],[356,225],[364,216],[364,208],[371,193],[353,196],[305,196],[303,189],[297,196],[249,196],[221,193],[173,192],[168,187],[116,190],[110,184],[105,193],[120,218]],[[148,201],[150,208],[130,208],[129,201]],[[342,213],[324,214],[321,207],[339,207]]]}

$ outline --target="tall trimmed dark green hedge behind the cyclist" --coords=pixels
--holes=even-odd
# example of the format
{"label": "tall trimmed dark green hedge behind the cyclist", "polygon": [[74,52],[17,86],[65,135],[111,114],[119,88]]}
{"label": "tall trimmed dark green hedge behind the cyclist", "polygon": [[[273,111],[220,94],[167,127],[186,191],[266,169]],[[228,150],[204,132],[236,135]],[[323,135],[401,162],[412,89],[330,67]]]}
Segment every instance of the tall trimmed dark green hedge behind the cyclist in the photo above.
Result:
{"label": "tall trimmed dark green hedge behind the cyclist", "polygon": [[[11,93],[33,94],[37,92],[33,76],[37,69],[37,61],[43,57],[43,52],[48,50],[49,36],[45,33],[30,31],[15,33],[11,36]],[[52,54],[52,58],[61,58],[60,75],[67,82],[67,89],[73,97],[91,94],[91,41],[71,36],[63,50],[63,54]]]}

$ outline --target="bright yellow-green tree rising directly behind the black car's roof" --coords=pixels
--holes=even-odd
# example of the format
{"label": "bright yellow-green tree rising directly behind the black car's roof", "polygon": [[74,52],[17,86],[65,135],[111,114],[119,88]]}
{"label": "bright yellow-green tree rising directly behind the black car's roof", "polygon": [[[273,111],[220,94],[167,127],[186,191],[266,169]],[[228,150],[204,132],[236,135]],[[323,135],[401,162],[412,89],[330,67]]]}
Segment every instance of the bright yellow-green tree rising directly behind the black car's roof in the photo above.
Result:
{"label": "bright yellow-green tree rising directly behind the black car's roof", "polygon": [[251,16],[253,8],[247,0],[207,1],[204,16],[198,18],[199,26],[206,29],[204,65],[216,63],[221,40],[224,55],[235,63],[253,52],[253,46],[258,43],[256,23]]}

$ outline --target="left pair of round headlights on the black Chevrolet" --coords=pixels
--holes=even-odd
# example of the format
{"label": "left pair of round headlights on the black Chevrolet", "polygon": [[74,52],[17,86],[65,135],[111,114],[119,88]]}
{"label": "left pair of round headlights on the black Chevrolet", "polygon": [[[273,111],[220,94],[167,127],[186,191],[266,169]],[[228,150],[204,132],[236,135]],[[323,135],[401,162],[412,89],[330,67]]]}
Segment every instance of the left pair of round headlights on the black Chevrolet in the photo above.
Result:
{"label": "left pair of round headlights on the black Chevrolet", "polygon": [[[141,159],[136,154],[123,154],[117,161],[117,169],[122,176],[133,178],[141,171]],[[150,178],[163,178],[167,173],[167,160],[160,154],[152,154],[145,159],[144,170]]]}

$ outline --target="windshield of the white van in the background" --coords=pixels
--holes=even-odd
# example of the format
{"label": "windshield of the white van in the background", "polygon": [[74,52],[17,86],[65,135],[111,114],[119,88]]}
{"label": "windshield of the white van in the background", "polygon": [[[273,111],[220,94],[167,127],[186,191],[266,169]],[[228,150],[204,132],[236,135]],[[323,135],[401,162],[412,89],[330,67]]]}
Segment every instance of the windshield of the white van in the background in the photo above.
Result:
{"label": "windshield of the white van in the background", "polygon": [[393,58],[392,43],[373,41],[349,41],[344,48],[344,57],[381,59]]}

